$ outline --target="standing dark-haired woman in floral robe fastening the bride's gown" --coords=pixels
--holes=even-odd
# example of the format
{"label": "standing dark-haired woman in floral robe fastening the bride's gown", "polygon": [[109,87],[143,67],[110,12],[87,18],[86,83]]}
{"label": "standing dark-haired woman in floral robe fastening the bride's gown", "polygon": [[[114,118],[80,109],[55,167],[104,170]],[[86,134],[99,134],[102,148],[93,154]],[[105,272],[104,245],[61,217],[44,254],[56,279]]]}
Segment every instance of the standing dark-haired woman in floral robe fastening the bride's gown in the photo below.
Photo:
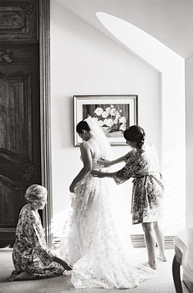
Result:
{"label": "standing dark-haired woman in floral robe fastening the bride's gown", "polygon": [[156,242],[160,251],[157,257],[166,261],[164,234],[161,227],[164,181],[159,173],[158,155],[152,144],[144,143],[145,132],[141,127],[137,125],[129,127],[124,131],[124,137],[126,144],[132,148],[130,152],[113,161],[101,158],[98,162],[110,167],[124,161],[125,166],[113,173],[92,171],[92,174],[99,178],[113,178],[118,185],[134,178],[131,202],[132,224],[142,224],[148,252],[147,265],[156,269]]}

